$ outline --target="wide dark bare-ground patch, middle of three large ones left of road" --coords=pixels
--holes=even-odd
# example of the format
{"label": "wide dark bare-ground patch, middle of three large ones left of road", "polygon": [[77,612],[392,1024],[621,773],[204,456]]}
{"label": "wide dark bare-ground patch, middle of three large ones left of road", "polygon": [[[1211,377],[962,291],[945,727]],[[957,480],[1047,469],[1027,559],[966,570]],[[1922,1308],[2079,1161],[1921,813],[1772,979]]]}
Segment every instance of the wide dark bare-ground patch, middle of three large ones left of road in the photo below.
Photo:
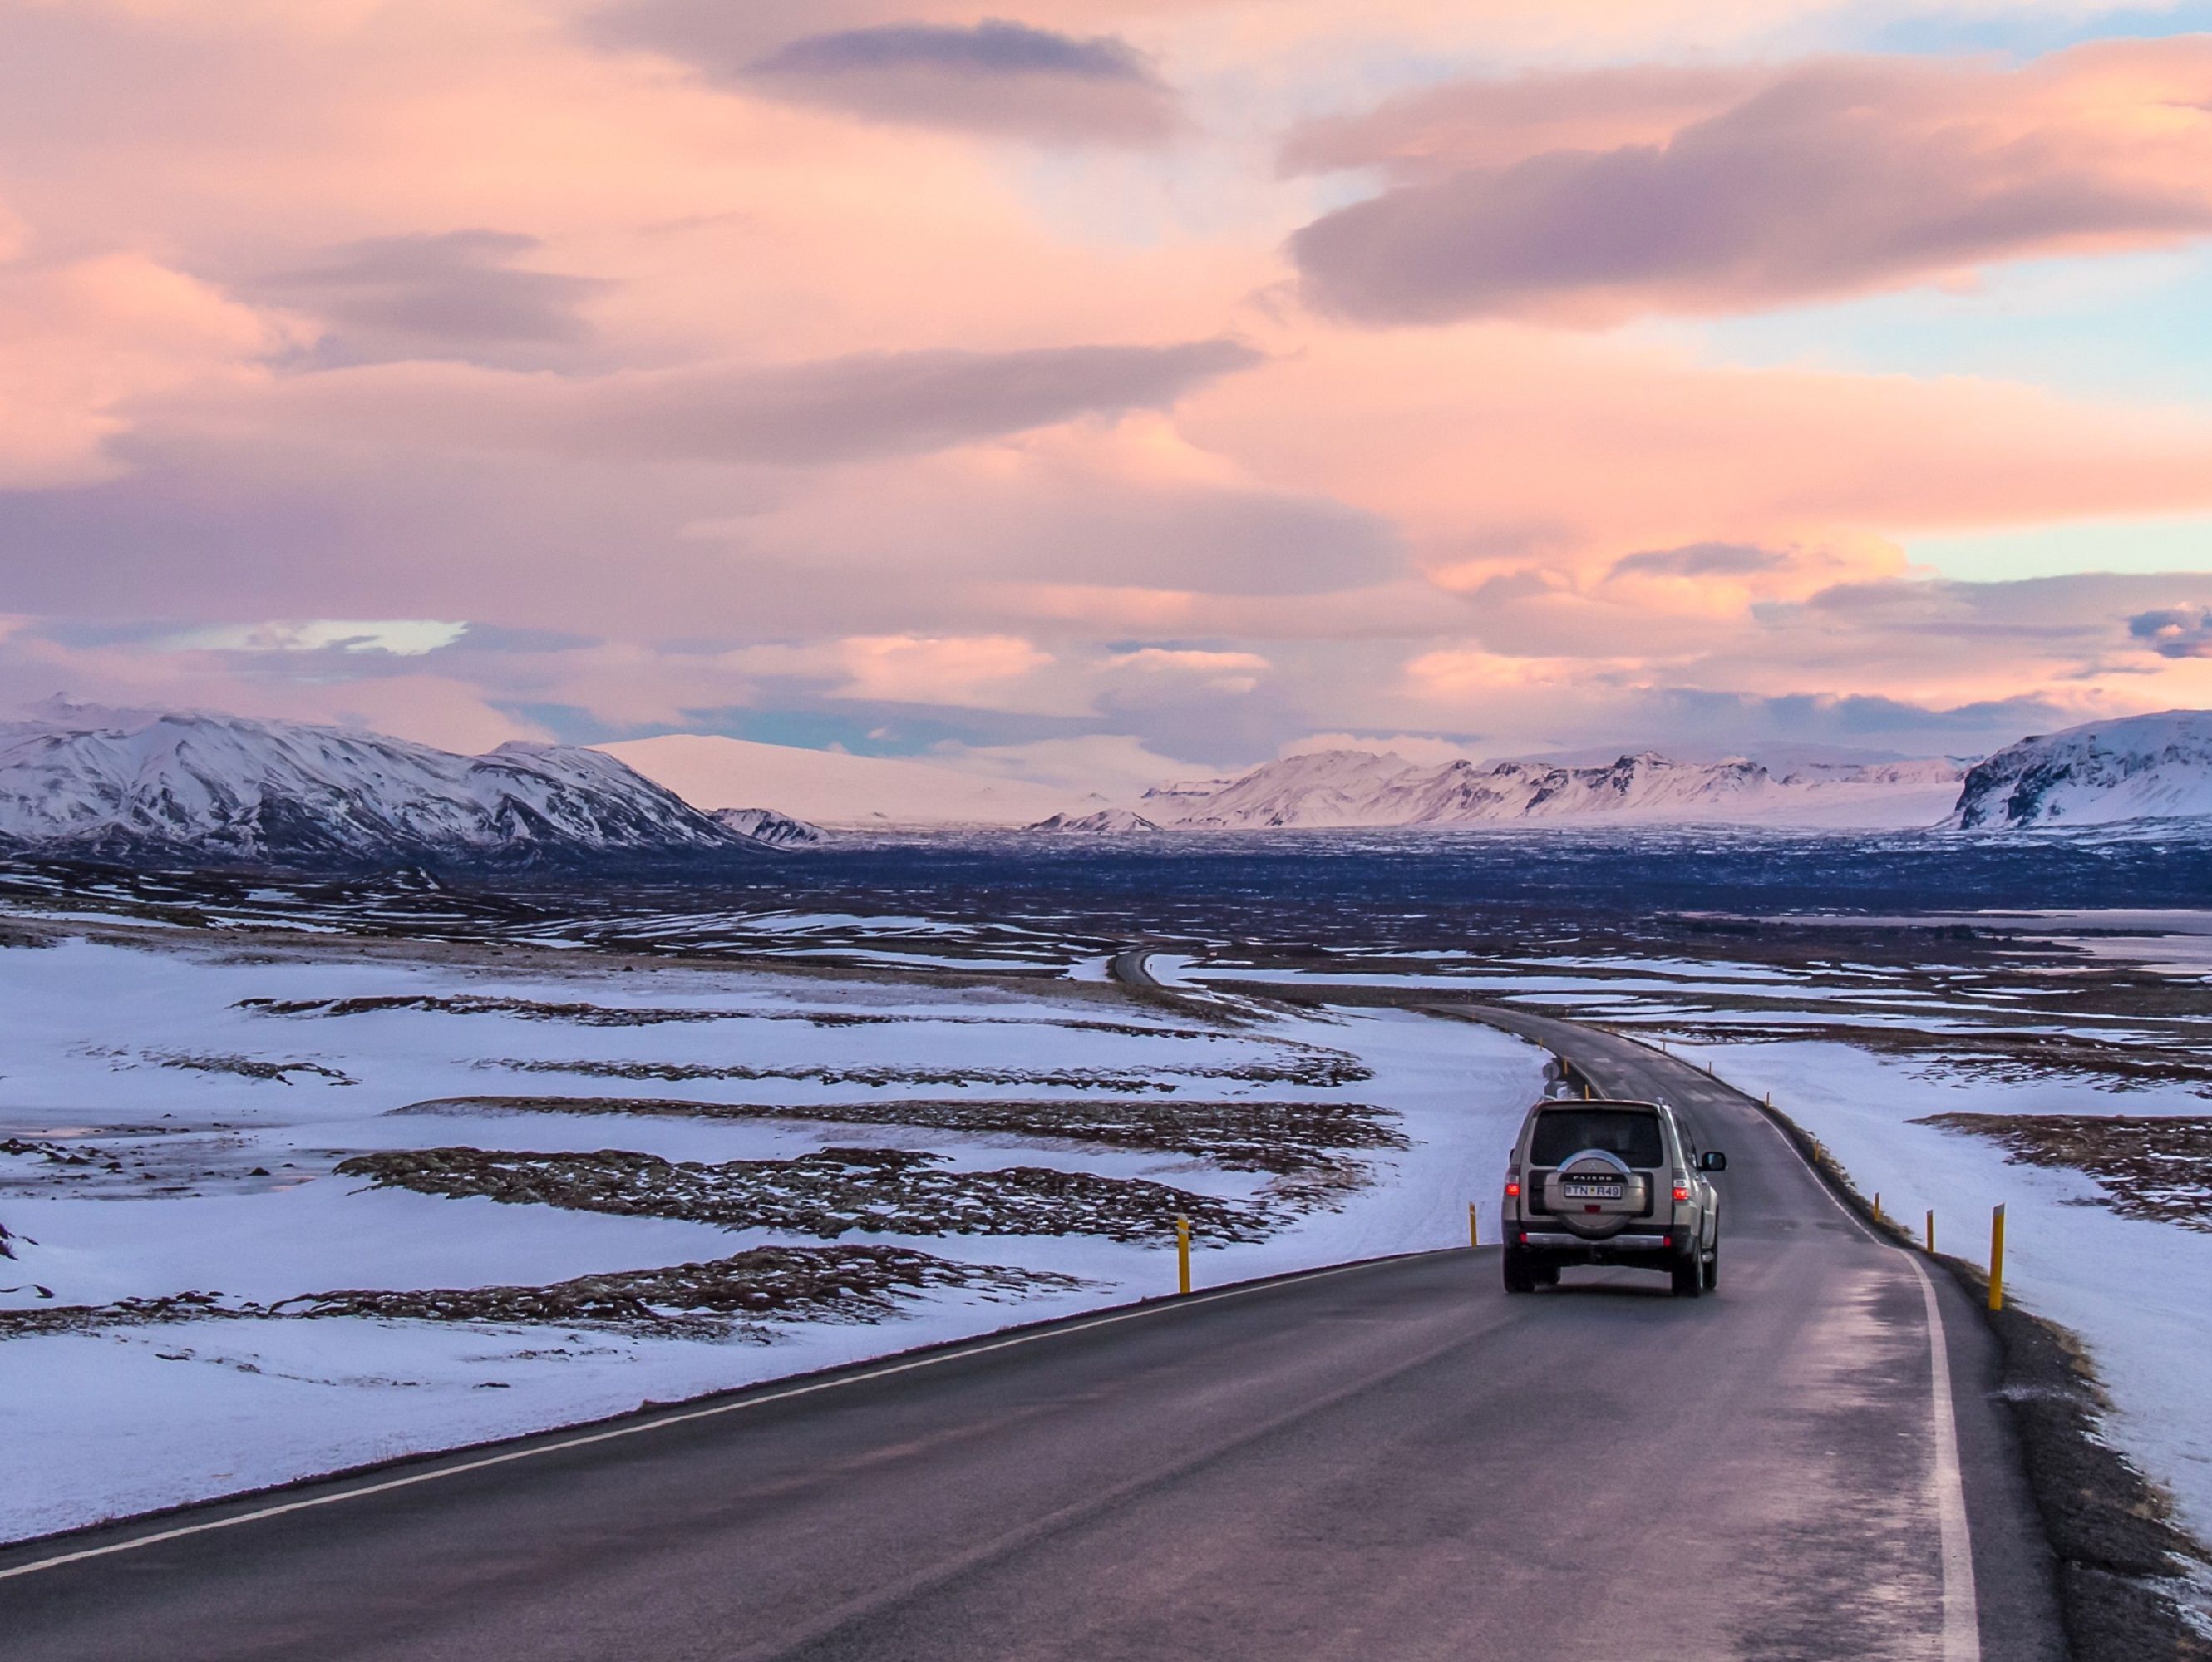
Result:
{"label": "wide dark bare-ground patch, middle of three large ones left of road", "polygon": [[785,1228],[836,1239],[872,1235],[1104,1235],[1157,1242],[1188,1217],[1212,1242],[1267,1237],[1270,1208],[1194,1195],[1139,1177],[1048,1166],[947,1171],[914,1149],[821,1149],[796,1160],[672,1162],[626,1149],[509,1153],[398,1149],[354,1155],[341,1177],[451,1199],[679,1217],[726,1228]]}

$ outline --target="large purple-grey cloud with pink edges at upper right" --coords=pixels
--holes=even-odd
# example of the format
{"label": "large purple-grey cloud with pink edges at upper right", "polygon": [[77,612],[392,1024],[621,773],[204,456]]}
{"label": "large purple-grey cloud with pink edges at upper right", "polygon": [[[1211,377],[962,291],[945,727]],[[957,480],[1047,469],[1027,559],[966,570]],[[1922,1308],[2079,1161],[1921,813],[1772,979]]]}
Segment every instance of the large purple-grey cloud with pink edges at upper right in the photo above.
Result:
{"label": "large purple-grey cloud with pink edges at upper right", "polygon": [[2212,35],[1471,84],[1290,159],[1405,179],[1290,246],[1360,323],[1763,310],[2212,232]]}

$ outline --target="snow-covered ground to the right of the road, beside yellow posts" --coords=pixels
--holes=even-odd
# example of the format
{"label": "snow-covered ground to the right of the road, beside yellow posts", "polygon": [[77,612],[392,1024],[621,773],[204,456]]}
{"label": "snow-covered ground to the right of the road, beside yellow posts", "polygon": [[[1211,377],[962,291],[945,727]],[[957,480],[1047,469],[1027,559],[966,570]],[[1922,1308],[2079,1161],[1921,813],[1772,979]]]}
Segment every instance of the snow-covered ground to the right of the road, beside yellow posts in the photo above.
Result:
{"label": "snow-covered ground to the right of the road, beside yellow posts", "polygon": [[2004,1281],[2035,1315],[2088,1341],[2117,1412],[2108,1434],[2168,1483],[2183,1520],[2212,1534],[2212,1235],[2121,1217],[2077,1171],[2008,1164],[1989,1138],[1913,1124],[1931,1113],[2205,1113],[2185,1089],[2126,1095],[2079,1080],[1991,1082],[1944,1076],[1851,1045],[1672,1045],[1827,1144],[1867,1195],[1913,1228],[1936,1211],[1936,1246],[1989,1261],[1991,1208],[2004,1206]]}

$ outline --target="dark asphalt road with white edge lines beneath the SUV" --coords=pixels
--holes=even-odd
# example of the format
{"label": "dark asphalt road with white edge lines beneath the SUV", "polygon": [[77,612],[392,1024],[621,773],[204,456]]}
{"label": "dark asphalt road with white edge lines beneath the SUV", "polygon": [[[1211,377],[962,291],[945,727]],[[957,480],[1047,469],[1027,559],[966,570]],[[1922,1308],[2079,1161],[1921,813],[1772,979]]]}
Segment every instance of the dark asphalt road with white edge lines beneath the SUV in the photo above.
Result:
{"label": "dark asphalt road with white edge lines beneath the SUV", "polygon": [[978,1341],[7,1551],[0,1658],[2059,1658],[1955,1288],[1732,1091],[1500,1022],[1728,1151],[1717,1295],[1455,1250]]}

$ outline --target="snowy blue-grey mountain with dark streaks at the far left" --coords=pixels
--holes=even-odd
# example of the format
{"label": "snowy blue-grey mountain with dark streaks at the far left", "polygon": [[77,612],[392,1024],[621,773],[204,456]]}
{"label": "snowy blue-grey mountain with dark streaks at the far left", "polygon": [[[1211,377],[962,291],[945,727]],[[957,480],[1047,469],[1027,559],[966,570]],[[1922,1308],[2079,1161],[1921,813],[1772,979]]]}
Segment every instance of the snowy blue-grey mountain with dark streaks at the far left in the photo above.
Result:
{"label": "snowy blue-grey mountain with dark streaks at the far left", "polygon": [[0,721],[0,848],[321,870],[604,865],[763,843],[597,750],[458,757],[296,721],[49,704]]}

